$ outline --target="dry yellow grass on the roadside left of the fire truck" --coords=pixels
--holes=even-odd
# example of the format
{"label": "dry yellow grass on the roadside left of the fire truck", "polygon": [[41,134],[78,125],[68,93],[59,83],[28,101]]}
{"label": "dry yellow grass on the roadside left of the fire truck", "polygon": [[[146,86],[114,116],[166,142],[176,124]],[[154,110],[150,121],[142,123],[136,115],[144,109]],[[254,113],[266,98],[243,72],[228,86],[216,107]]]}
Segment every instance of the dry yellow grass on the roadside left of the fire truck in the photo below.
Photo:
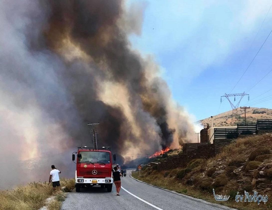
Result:
{"label": "dry yellow grass on the roadside left of the fire truck", "polygon": [[[73,189],[74,179],[61,179],[61,186]],[[52,185],[48,182],[32,182],[26,186],[18,186],[13,190],[0,192],[0,209],[36,210],[45,205],[45,200],[53,194]]]}

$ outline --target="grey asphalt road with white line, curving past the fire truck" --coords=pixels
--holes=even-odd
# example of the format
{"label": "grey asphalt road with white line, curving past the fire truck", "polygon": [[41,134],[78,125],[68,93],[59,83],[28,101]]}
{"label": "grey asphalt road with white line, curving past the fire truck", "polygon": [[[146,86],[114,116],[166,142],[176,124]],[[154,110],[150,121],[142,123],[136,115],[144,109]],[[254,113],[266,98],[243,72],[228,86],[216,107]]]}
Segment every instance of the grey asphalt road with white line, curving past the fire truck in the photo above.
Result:
{"label": "grey asphalt road with white line, curving past the fire truck", "polygon": [[222,210],[230,209],[225,206],[212,204],[189,196],[173,193],[145,183],[141,183],[129,177],[131,170],[128,170],[126,177],[121,177],[122,189],[120,196],[116,196],[116,188],[113,185],[112,192],[106,189],[92,187],[69,193],[63,202],[62,210],[75,209],[105,209],[105,210]]}

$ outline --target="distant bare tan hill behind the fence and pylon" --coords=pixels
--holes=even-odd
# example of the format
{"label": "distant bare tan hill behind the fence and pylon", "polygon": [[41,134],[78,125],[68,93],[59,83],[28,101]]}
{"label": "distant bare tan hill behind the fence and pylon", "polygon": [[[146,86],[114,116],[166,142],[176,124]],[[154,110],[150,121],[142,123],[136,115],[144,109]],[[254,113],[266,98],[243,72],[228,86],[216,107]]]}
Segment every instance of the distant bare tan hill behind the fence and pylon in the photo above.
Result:
{"label": "distant bare tan hill behind the fence and pylon", "polygon": [[[272,109],[251,107],[246,109],[246,123],[256,123],[257,119],[272,119]],[[220,126],[233,126],[237,123],[245,123],[245,111],[244,109],[238,109],[238,117],[234,113],[232,120],[232,110],[223,112],[219,115],[213,116],[214,127]],[[207,123],[211,125],[211,118],[206,118],[198,121],[203,126]]]}

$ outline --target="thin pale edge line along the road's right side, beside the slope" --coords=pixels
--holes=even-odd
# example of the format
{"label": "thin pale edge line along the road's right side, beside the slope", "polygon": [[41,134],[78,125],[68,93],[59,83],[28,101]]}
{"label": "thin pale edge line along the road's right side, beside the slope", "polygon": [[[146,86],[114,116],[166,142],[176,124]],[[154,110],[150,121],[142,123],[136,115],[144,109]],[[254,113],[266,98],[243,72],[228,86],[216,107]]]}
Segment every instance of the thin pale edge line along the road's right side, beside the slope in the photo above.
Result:
{"label": "thin pale edge line along the road's right side, beside the slope", "polygon": [[150,186],[152,186],[152,187],[156,187],[156,188],[159,188],[159,189],[161,189],[161,190],[168,191],[169,193],[174,193],[174,194],[177,194],[177,195],[179,195],[179,196],[186,197],[186,198],[188,198],[188,199],[191,199],[191,200],[194,200],[194,201],[197,201],[197,202],[200,202],[200,203],[206,203],[206,204],[208,204],[208,205],[210,205],[210,206],[215,206],[215,207],[221,208],[221,209],[238,210],[238,209],[230,208],[230,207],[228,207],[228,206],[224,206],[224,205],[221,205],[221,204],[212,203],[212,202],[208,202],[208,201],[206,201],[206,200],[202,200],[202,199],[199,199],[199,198],[194,198],[194,197],[187,196],[187,195],[184,195],[184,194],[181,194],[181,193],[177,193],[177,192],[175,192],[175,191],[168,190],[168,189],[165,189],[165,188],[162,188],[162,187],[153,185],[153,184],[149,184],[149,183],[147,183],[147,182],[143,182],[143,181],[141,181],[141,180],[139,180],[139,179],[136,179],[136,178],[132,177],[132,176],[131,176],[131,172],[129,172],[129,177],[132,178],[132,179],[134,179],[134,180],[137,181],[137,182],[141,182],[141,183],[143,183],[143,184],[147,184],[147,185],[150,185]]}

